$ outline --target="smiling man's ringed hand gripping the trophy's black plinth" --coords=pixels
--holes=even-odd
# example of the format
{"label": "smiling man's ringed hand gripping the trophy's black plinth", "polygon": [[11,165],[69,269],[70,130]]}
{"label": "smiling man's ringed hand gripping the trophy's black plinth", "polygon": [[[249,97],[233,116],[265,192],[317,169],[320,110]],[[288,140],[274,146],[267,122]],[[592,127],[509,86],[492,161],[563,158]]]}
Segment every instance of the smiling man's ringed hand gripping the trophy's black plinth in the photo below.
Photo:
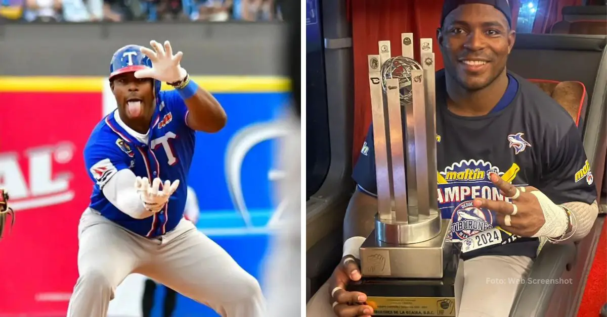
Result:
{"label": "smiling man's ringed hand gripping the trophy's black plinth", "polygon": [[371,317],[373,307],[365,305],[367,295],[361,292],[348,292],[346,285],[350,281],[361,279],[361,269],[351,255],[344,256],[341,263],[329,278],[329,296],[333,312],[339,317]]}

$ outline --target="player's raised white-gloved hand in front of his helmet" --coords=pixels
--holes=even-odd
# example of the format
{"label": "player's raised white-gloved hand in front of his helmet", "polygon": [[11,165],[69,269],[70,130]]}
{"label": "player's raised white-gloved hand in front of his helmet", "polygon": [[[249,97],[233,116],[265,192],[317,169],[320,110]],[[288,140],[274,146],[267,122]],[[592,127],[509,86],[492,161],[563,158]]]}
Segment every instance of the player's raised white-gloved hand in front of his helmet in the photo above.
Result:
{"label": "player's raised white-gloved hand in front of his helmet", "polygon": [[138,70],[135,78],[154,78],[164,82],[178,82],[186,77],[188,72],[180,65],[183,53],[177,52],[173,55],[173,48],[169,41],[164,42],[164,47],[156,41],[150,41],[154,50],[141,47],[141,53],[148,56],[152,61],[152,68]]}

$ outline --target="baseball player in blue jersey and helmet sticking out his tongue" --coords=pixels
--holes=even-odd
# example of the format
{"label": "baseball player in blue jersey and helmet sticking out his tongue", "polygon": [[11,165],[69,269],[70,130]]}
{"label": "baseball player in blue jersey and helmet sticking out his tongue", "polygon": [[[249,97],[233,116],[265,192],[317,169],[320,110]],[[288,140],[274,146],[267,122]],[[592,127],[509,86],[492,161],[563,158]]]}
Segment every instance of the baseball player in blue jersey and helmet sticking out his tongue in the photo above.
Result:
{"label": "baseball player in blue jersey and helmet sticking out his tongue", "polygon": [[[171,44],[127,45],[110,62],[118,108],[93,129],[84,162],[95,183],[78,227],[80,276],[68,316],[104,317],[118,284],[140,273],[222,316],[265,315],[259,283],[183,218],[195,131],[226,123]],[[174,90],[161,92],[161,82]]]}

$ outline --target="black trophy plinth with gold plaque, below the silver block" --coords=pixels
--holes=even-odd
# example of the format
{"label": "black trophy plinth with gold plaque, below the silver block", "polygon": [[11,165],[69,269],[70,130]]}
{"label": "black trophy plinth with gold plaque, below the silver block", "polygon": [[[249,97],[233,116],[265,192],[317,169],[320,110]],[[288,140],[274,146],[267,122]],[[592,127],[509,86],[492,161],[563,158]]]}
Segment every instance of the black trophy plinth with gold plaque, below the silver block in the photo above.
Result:
{"label": "black trophy plinth with gold plaque, below the silver block", "polygon": [[[373,316],[451,316],[455,317],[459,256],[453,255],[441,279],[367,278],[348,284],[350,292],[367,295]],[[463,284],[463,283],[461,283]]]}

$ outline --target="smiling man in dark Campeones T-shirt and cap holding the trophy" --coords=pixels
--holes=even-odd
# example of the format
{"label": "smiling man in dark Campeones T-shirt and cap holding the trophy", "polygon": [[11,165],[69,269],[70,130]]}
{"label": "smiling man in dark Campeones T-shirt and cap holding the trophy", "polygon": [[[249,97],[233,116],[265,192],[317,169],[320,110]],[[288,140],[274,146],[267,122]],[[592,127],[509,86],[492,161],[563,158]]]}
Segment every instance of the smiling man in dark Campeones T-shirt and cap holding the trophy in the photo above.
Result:
{"label": "smiling man in dark Campeones T-shirt and cap holding the trophy", "polygon": [[[554,99],[506,70],[515,41],[507,0],[445,0],[436,74],[438,202],[461,243],[459,317],[506,317],[540,245],[577,241],[597,217],[580,132]],[[309,317],[369,316],[359,248],[375,222],[373,127],[353,171],[341,264],[308,303]],[[329,299],[327,299],[329,297]],[[331,309],[331,306],[333,307]]]}

